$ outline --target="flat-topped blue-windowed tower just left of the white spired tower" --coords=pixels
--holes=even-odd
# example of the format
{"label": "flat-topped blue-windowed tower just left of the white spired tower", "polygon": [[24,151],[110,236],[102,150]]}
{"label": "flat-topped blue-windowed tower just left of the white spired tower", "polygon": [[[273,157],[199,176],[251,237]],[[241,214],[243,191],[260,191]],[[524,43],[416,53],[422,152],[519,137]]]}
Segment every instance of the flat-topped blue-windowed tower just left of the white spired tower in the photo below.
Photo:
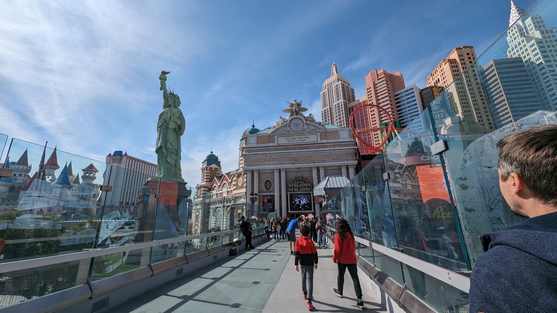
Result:
{"label": "flat-topped blue-windowed tower just left of the white spired tower", "polygon": [[491,60],[483,67],[482,80],[497,128],[543,110],[521,57]]}

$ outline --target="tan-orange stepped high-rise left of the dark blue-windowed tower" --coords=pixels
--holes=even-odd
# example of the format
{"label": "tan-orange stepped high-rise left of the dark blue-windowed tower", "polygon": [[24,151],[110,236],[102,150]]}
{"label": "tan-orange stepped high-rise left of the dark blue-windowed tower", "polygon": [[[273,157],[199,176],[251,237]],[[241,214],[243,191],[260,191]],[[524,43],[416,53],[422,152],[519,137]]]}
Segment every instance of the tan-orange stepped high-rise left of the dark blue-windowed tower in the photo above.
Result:
{"label": "tan-orange stepped high-rise left of the dark blue-windowed tower", "polygon": [[477,122],[486,130],[495,130],[489,98],[480,80],[482,69],[475,61],[474,47],[456,47],[427,76],[427,85],[446,89],[447,102],[462,120],[471,116],[466,120]]}

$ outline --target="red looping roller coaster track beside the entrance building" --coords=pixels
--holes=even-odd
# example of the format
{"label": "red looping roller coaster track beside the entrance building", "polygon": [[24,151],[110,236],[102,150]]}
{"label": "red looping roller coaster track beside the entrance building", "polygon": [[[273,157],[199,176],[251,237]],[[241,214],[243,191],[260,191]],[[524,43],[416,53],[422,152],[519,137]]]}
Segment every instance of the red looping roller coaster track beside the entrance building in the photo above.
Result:
{"label": "red looping roller coaster track beside the entrance building", "polygon": [[[359,129],[359,128],[354,127],[354,115],[355,115],[355,113],[360,111],[360,110],[365,111],[365,110],[369,110],[371,108],[378,109],[379,111],[382,111],[382,113],[384,113],[385,116],[387,116],[387,118],[388,118],[388,125],[383,126],[383,127],[365,128],[365,129]],[[352,133],[358,139],[358,141],[361,145],[359,147],[361,154],[378,154],[378,153],[380,153],[381,151],[383,151],[383,146],[385,145],[385,143],[387,143],[387,140],[389,139],[389,136],[393,132],[396,133],[398,131],[402,131],[402,128],[396,128],[394,126],[393,119],[391,118],[391,116],[387,112],[387,110],[385,110],[385,109],[383,109],[383,107],[380,107],[380,106],[375,105],[375,104],[365,104],[365,105],[357,107],[352,112],[352,114],[350,114],[350,127],[352,128]],[[373,141],[371,143],[369,143],[367,141],[369,139],[373,140],[373,132],[374,131],[383,131],[384,132],[382,134],[383,140],[377,146],[374,145]],[[362,138],[363,134],[369,134],[369,136],[366,136],[366,137],[369,137],[369,139]]]}

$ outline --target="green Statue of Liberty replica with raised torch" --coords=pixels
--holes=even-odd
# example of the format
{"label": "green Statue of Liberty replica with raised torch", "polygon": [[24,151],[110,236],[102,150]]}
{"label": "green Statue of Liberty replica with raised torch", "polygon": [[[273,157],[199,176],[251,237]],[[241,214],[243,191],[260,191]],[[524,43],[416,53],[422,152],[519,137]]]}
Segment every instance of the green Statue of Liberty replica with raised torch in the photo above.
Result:
{"label": "green Statue of Liberty replica with raised torch", "polygon": [[157,163],[159,171],[154,178],[183,182],[182,167],[182,144],[180,136],[184,134],[185,119],[182,110],[179,109],[180,97],[174,90],[167,90],[167,74],[162,71],[159,75],[160,90],[163,91],[163,110],[159,114],[157,123]]}

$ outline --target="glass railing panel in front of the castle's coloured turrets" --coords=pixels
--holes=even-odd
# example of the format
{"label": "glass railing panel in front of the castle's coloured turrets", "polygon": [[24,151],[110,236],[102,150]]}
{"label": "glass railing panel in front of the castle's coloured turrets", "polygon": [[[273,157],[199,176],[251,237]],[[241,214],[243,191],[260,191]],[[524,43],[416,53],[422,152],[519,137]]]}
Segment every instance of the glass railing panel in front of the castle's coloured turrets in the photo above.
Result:
{"label": "glass railing panel in front of the castle's coloured turrets", "polygon": [[19,139],[6,159],[13,174],[0,178],[0,262],[93,248],[105,164]]}

